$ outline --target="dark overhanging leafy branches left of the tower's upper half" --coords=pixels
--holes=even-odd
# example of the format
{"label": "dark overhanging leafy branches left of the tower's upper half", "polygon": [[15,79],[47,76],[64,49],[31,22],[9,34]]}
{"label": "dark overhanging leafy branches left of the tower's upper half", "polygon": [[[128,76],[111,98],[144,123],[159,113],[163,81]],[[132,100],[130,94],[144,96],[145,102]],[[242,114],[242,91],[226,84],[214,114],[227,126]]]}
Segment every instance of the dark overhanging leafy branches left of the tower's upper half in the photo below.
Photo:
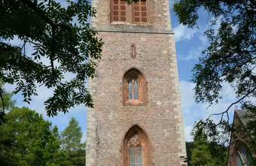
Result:
{"label": "dark overhanging leafy branches left of the tower's upper half", "polygon": [[[52,0],[0,1],[0,79],[17,85],[15,93],[22,92],[28,103],[36,87],[53,88],[45,101],[48,116],[81,103],[93,107],[85,83],[95,74],[89,58],[99,59],[103,44],[88,23],[96,11],[86,0],[67,2],[64,8]],[[11,45],[14,38],[23,44]],[[67,80],[65,74],[74,77]]]}

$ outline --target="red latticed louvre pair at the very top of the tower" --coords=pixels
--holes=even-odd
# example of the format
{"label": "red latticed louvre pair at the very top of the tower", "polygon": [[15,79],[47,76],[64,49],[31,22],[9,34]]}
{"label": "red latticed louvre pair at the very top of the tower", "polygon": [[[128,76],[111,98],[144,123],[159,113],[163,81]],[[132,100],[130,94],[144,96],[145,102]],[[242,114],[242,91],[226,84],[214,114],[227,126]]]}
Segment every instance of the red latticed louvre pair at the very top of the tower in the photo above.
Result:
{"label": "red latticed louvre pair at the very top of the tower", "polygon": [[147,23],[148,1],[139,0],[136,3],[127,4],[125,0],[111,0],[112,22]]}

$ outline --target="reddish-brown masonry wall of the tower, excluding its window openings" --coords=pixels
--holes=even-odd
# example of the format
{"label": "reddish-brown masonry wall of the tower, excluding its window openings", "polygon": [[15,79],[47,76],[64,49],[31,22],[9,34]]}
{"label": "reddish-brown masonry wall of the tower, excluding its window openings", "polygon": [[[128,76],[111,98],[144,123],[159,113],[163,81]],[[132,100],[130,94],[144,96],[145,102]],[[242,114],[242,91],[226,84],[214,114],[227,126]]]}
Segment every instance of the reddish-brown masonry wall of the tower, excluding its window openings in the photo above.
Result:
{"label": "reddish-brown masonry wall of the tower, excluding its window openings", "polygon": [[[88,109],[86,165],[124,165],[122,142],[135,124],[148,134],[150,165],[186,165],[186,146],[179,92],[174,34],[168,1],[154,4],[154,25],[110,24],[109,1],[93,0],[93,26],[104,41],[97,76],[89,81],[95,108]],[[136,58],[130,55],[131,44]],[[138,68],[147,79],[147,105],[124,105],[122,77]]]}

